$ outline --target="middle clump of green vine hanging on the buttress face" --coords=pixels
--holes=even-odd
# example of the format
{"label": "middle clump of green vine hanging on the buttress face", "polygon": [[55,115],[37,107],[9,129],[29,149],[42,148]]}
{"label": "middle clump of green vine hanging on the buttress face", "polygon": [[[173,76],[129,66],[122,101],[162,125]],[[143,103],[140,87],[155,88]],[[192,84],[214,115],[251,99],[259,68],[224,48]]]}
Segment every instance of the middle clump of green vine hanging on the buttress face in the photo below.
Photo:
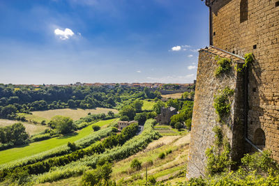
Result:
{"label": "middle clump of green vine hanging on the buttress face", "polygon": [[223,91],[219,91],[218,95],[214,95],[213,107],[216,109],[218,114],[218,121],[222,121],[224,116],[229,114],[231,109],[231,102],[229,97],[234,95],[234,90],[226,87]]}

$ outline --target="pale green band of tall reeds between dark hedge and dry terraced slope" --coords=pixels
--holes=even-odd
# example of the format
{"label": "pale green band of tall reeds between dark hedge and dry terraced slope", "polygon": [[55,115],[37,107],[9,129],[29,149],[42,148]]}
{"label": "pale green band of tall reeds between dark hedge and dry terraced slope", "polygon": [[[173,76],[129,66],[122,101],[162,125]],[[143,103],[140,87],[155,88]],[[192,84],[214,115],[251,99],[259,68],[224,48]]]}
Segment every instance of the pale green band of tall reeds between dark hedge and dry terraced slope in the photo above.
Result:
{"label": "pale green band of tall reeds between dark hedge and dry terraced slope", "polygon": [[96,164],[102,160],[118,161],[129,157],[130,155],[133,155],[146,148],[146,146],[153,139],[158,139],[160,137],[160,134],[153,130],[153,121],[154,120],[152,119],[146,121],[142,134],[126,141],[123,146],[116,146],[99,155],[93,154],[91,156],[86,156],[81,160],[72,162],[66,166],[53,167],[50,172],[33,176],[33,181],[37,183],[45,183],[68,178],[70,176],[78,176],[82,174],[84,170],[95,168]]}

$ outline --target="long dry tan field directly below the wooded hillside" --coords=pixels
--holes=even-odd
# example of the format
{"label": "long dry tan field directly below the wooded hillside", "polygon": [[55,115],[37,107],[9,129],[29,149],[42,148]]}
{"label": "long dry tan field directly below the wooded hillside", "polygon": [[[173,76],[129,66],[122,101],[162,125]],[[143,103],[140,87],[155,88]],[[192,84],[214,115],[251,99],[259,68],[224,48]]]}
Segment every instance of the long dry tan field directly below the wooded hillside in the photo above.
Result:
{"label": "long dry tan field directly below the wooded hillside", "polygon": [[50,121],[54,116],[67,116],[72,118],[74,121],[86,116],[87,114],[107,114],[108,111],[113,111],[114,114],[117,114],[119,111],[116,109],[107,109],[107,108],[96,108],[96,109],[53,109],[47,111],[32,111],[32,114],[18,114],[19,116],[24,116],[27,121],[35,121],[41,123],[42,121]]}

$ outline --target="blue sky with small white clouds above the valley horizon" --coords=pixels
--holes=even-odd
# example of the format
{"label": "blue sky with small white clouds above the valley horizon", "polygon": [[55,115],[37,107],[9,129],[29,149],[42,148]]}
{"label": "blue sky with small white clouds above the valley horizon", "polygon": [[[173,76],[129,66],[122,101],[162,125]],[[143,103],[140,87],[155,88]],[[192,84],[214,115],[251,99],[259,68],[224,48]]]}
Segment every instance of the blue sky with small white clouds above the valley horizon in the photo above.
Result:
{"label": "blue sky with small white clouds above the valley horizon", "polygon": [[195,0],[0,0],[0,83],[190,83],[209,45]]}

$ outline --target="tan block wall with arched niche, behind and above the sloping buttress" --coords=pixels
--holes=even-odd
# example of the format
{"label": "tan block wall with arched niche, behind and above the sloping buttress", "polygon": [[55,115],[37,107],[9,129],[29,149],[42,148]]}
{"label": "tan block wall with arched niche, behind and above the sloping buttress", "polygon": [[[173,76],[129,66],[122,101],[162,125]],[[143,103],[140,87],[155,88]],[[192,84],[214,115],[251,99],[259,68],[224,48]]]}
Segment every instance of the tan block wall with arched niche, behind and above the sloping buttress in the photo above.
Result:
{"label": "tan block wall with arched niche, behind and above the sloping buttress", "polygon": [[249,69],[248,139],[258,128],[265,147],[279,161],[279,6],[278,0],[248,0],[248,20],[240,21],[241,1],[215,1],[212,6],[213,46],[243,56],[252,52]]}

